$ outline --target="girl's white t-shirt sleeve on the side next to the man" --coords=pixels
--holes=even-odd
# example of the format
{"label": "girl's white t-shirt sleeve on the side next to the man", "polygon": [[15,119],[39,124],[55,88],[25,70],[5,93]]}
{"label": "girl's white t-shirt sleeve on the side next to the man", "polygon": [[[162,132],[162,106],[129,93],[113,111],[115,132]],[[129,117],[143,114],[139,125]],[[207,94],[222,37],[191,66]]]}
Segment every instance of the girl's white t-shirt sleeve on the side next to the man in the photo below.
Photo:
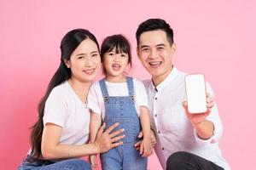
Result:
{"label": "girl's white t-shirt sleeve on the side next to the man", "polygon": [[148,107],[148,94],[142,81],[134,79],[135,102],[138,107]]}

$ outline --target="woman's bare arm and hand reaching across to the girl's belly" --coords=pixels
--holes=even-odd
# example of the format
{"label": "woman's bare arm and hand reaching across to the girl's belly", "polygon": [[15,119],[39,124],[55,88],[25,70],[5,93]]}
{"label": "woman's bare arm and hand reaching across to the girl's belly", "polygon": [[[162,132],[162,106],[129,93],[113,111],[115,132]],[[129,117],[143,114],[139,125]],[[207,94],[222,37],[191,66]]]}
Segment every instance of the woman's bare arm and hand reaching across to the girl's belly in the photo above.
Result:
{"label": "woman's bare arm and hand reaching across to the girl's belly", "polygon": [[95,142],[92,144],[72,145],[60,144],[62,128],[53,123],[46,123],[42,136],[42,155],[44,159],[67,159],[103,153],[122,144],[122,142],[114,142],[125,137],[124,135],[115,137],[124,130],[119,129],[111,133],[118,125],[119,123],[115,123],[103,132],[106,127],[106,125],[103,124],[96,135]]}

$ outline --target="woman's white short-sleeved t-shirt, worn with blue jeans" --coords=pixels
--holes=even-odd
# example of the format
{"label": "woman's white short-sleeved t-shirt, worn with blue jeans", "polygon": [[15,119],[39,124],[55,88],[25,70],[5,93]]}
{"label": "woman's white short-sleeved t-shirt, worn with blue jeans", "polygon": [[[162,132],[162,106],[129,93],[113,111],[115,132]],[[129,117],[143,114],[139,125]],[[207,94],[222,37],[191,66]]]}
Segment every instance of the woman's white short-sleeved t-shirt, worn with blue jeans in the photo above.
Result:
{"label": "woman's white short-sleeved t-shirt, worn with blue jeans", "polygon": [[67,81],[50,92],[43,119],[44,126],[49,122],[62,127],[61,144],[88,142],[90,111]]}

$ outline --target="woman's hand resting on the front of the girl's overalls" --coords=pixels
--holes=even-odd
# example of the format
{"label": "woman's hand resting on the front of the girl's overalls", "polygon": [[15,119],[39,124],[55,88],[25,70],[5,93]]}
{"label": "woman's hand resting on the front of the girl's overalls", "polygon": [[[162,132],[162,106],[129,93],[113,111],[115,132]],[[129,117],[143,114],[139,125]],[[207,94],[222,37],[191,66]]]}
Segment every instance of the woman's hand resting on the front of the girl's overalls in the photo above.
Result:
{"label": "woman's hand resting on the front of the girl's overalls", "polygon": [[120,133],[123,133],[125,131],[124,128],[111,133],[113,131],[113,129],[118,126],[119,126],[119,123],[116,122],[111,127],[108,127],[108,129],[104,132],[106,123],[103,123],[102,127],[100,127],[100,129],[96,135],[96,140],[94,142],[96,149],[97,149],[97,153],[104,153],[114,147],[117,147],[117,146],[123,144],[123,142],[116,143],[116,141],[118,141],[119,139],[125,138],[125,135],[117,136]]}

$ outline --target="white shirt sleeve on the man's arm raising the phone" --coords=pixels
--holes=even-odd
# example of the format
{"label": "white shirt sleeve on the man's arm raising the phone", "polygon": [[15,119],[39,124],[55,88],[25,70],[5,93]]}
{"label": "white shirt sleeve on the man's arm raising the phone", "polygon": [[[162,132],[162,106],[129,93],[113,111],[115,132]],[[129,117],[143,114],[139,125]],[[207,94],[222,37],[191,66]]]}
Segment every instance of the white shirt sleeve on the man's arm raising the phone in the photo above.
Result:
{"label": "white shirt sleeve on the man's arm raising the phone", "polygon": [[[210,94],[210,96],[214,97],[213,90],[211,85],[207,82],[207,93]],[[220,120],[220,117],[218,116],[218,106],[216,105],[216,101],[214,103],[214,106],[212,107],[212,111],[209,116],[207,116],[207,120],[213,123],[214,130],[213,135],[210,139],[201,139],[196,131],[194,130],[195,139],[201,143],[201,144],[207,144],[207,143],[216,143],[219,141],[219,139],[222,136],[223,133],[223,126],[222,122]]]}

